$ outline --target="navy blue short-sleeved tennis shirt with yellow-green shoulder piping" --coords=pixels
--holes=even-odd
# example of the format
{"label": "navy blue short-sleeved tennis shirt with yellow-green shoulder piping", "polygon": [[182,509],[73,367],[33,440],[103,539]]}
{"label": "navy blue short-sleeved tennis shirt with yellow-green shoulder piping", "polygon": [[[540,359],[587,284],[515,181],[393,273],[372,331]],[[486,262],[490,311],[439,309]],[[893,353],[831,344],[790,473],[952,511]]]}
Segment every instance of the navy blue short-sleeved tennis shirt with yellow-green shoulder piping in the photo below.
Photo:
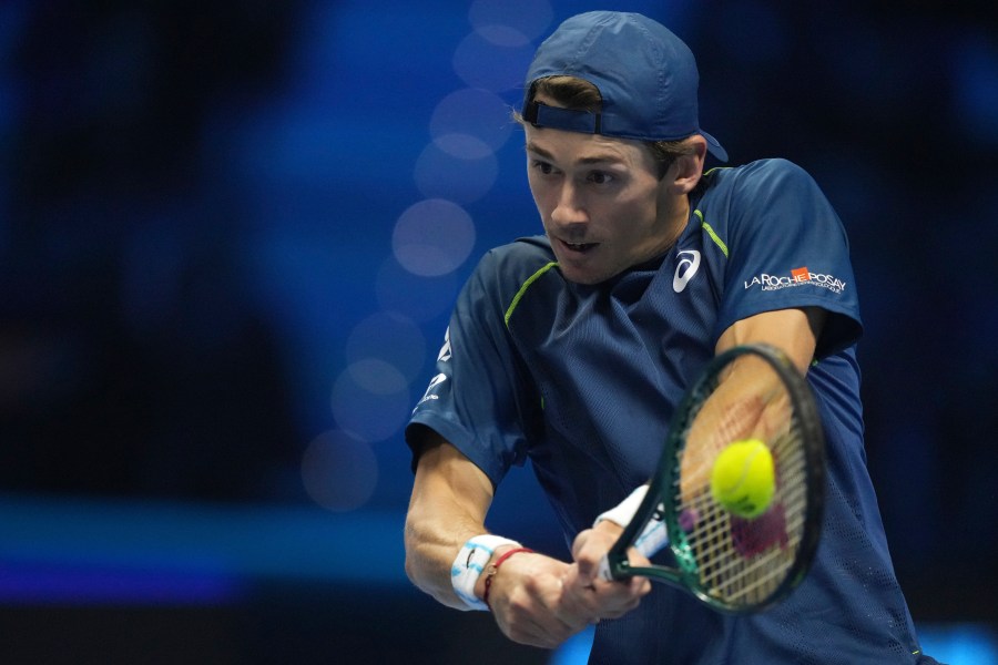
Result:
{"label": "navy blue short-sleeved tennis shirt with yellow-green shoulder piping", "polygon": [[[828,313],[807,379],[825,428],[816,561],[787,601],[720,614],[665,585],[597,627],[591,663],[910,663],[918,645],[866,471],[858,297],[842,223],[800,167],[703,176],[668,253],[593,286],[547,238],[489,252],[465,285],[406,429],[436,430],[498,485],[529,458],[568,543],[655,470],[675,405],[721,334],[763,311]],[[723,636],[723,638],[721,638]]]}

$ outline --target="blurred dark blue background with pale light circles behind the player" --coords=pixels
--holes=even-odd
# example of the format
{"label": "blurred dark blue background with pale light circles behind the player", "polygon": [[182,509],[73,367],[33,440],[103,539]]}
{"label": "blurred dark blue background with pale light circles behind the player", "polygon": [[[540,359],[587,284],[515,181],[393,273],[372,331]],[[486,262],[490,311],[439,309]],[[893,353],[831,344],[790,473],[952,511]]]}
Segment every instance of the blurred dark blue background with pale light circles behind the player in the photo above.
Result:
{"label": "blurred dark blue background with pale light circles behind the player", "polygon": [[[977,664],[998,24],[960,7],[613,8],[691,45],[733,163],[791,158],[839,212],[897,572],[926,649]],[[0,662],[579,662],[410,586],[401,429],[477,258],[540,231],[532,51],[605,8],[0,3]],[[529,470],[490,526],[567,556]]]}

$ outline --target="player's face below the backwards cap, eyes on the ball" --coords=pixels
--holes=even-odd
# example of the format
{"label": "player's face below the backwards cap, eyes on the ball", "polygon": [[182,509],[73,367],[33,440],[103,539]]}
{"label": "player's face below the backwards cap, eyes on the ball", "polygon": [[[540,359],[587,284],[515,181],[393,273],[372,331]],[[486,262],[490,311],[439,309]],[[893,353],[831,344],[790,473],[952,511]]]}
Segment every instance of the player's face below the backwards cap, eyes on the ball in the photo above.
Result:
{"label": "player's face below the backwards cap, eyes on the ball", "polygon": [[526,126],[530,191],[566,279],[598,284],[668,249],[685,197],[637,141]]}

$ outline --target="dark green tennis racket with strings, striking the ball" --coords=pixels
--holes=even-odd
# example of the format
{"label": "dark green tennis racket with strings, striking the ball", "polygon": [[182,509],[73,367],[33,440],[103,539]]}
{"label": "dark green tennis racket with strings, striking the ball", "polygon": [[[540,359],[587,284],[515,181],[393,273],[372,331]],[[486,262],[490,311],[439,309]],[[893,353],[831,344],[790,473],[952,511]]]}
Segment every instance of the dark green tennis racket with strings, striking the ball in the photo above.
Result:
{"label": "dark green tennis racket with strings, striking the ball", "polygon": [[[750,439],[767,447],[775,488],[751,519],[725,509],[711,491],[717,456]],[[643,575],[729,613],[777,603],[804,579],[817,548],[824,454],[809,387],[782,351],[744,345],[720,354],[675,411],[658,470],[601,562],[602,576]],[[649,532],[663,525],[673,565],[631,565],[628,549],[642,551]]]}

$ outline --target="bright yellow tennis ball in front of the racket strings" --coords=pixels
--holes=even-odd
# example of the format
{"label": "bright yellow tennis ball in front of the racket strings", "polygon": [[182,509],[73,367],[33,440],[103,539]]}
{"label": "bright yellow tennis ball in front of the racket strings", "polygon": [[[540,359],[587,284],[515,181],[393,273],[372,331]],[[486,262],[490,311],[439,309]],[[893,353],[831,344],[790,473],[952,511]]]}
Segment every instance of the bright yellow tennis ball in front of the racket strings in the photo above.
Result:
{"label": "bright yellow tennis ball in front of the racket strings", "polygon": [[711,494],[732,514],[757,518],[770,508],[775,491],[773,456],[758,439],[735,441],[714,461]]}

